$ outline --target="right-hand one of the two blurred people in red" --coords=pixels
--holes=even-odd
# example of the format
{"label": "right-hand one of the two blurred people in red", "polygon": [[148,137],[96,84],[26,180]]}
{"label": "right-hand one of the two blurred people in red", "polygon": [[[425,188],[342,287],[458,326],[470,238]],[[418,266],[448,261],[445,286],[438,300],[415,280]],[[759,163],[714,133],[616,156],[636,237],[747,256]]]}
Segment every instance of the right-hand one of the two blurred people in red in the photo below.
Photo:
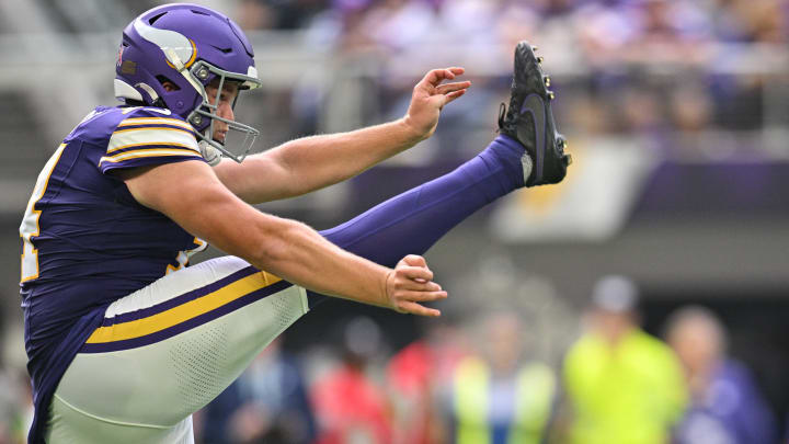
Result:
{"label": "right-hand one of the two blurred people in red", "polygon": [[468,354],[468,346],[457,328],[434,319],[428,322],[425,338],[405,346],[387,366],[395,444],[447,441],[437,401],[449,390],[455,368]]}

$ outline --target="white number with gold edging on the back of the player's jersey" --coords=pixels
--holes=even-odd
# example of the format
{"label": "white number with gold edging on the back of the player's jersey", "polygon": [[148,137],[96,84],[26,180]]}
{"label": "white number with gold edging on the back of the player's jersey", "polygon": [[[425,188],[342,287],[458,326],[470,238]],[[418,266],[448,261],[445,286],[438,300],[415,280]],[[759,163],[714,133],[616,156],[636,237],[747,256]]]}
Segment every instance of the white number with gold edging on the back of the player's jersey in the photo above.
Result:
{"label": "white number with gold edging on the back of the player's jersey", "polygon": [[32,281],[38,277],[38,250],[33,246],[34,237],[38,236],[41,228],[38,227],[38,218],[41,217],[41,210],[35,209],[35,204],[44,197],[46,193],[47,184],[49,183],[49,177],[52,175],[55,166],[62,155],[66,144],[62,144],[55,150],[55,153],[44,166],[44,169],[38,173],[36,185],[33,189],[33,195],[30,202],[27,202],[27,209],[25,210],[24,218],[22,218],[22,225],[20,225],[20,237],[22,238],[22,278],[21,282]]}

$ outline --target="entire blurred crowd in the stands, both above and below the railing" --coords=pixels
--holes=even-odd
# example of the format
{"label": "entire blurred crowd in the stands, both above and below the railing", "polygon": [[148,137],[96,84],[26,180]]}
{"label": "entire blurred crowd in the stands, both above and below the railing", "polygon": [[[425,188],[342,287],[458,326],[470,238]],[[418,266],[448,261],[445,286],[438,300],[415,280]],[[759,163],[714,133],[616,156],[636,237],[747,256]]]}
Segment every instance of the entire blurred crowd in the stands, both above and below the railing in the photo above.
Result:
{"label": "entire blurred crowd in the stands, both above and below the railing", "polygon": [[[507,48],[503,66],[470,72],[473,94],[443,123],[492,128],[508,87],[503,61],[526,38],[544,48],[548,72],[559,78],[554,112],[571,138],[636,135],[671,150],[709,145],[697,137],[704,130],[789,125],[786,101],[769,102],[787,87],[785,0],[242,0],[237,16],[249,31],[301,30],[307,45],[388,60],[371,79],[379,92],[373,119],[404,111],[414,79],[392,78],[403,62],[459,64],[464,57],[445,55]],[[302,122],[315,112],[294,109]],[[446,151],[466,151],[462,137],[441,141]]]}

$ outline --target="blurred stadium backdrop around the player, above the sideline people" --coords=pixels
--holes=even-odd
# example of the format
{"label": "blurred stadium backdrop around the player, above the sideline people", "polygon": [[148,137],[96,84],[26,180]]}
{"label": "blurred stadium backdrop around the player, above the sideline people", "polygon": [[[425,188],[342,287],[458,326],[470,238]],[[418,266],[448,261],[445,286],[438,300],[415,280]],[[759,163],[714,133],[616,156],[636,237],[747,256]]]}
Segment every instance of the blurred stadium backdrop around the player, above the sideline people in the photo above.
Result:
{"label": "blurred stadium backdrop around the player, above the sideline people", "polygon": [[[237,116],[262,129],[258,150],[396,118],[430,68],[464,66],[473,81],[444,111],[437,134],[412,151],[348,183],[261,207],[316,228],[483,148],[507,95],[514,44],[539,46],[575,162],[560,186],[495,203],[428,253],[450,293],[436,325],[462,327],[490,309],[518,312],[528,354],[558,374],[594,282],[624,274],[641,289],[641,319],[653,334],[686,304],[716,312],[730,354],[751,367],[786,423],[787,1],[198,2],[235,16],[253,42],[265,88],[242,98]],[[16,442],[28,409],[21,215],[59,140],[93,106],[114,103],[121,30],[160,3],[0,0],[0,443]],[[283,348],[313,382],[340,360],[343,330],[362,326],[378,342],[355,346],[367,351],[367,374],[386,391],[387,360],[436,326],[430,322],[330,301],[288,330]]]}

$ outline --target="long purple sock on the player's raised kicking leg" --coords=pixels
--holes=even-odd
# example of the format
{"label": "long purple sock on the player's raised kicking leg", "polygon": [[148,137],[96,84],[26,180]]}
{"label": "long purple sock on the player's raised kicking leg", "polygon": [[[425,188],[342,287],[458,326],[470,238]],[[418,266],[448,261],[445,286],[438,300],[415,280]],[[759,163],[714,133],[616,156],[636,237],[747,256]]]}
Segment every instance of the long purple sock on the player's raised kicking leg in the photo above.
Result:
{"label": "long purple sock on the player's raised kicking leg", "polygon": [[[395,196],[321,235],[373,262],[395,266],[407,254],[424,254],[476,210],[524,186],[523,153],[521,144],[500,135],[453,172]],[[310,296],[315,295],[310,292]]]}

